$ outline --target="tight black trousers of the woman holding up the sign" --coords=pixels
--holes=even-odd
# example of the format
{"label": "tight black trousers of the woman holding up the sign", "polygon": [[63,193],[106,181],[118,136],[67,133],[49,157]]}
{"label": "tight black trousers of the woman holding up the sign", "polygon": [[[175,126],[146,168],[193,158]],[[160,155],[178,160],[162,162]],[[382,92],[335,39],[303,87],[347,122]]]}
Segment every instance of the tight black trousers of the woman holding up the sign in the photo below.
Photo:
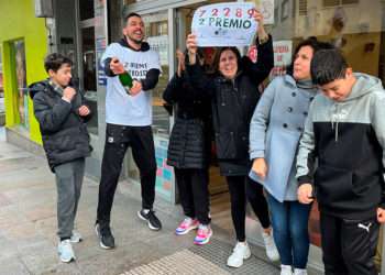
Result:
{"label": "tight black trousers of the woman holding up the sign", "polygon": [[231,217],[237,240],[244,242],[246,239],[246,198],[264,229],[271,226],[267,202],[262,185],[252,182],[249,176],[228,176],[226,178],[229,185]]}

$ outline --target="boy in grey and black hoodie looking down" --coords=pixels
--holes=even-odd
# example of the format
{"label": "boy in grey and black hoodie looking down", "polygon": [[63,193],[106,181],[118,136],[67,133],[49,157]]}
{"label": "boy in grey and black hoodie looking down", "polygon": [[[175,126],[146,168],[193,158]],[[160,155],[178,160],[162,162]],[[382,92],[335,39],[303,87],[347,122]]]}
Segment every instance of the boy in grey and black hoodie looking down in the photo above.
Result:
{"label": "boy in grey and black hoodie looking down", "polygon": [[375,275],[385,222],[385,91],[380,79],[354,74],[337,50],[315,54],[311,78],[322,94],[300,140],[298,200],[318,200],[327,275]]}

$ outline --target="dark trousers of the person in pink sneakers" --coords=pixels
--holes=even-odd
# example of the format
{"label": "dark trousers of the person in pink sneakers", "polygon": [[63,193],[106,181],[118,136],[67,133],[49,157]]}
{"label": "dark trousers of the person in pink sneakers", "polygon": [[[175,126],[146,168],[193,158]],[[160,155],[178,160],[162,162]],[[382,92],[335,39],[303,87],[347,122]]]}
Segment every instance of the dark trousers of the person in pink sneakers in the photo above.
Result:
{"label": "dark trousers of the person in pink sneakers", "polygon": [[208,169],[174,168],[185,215],[209,224],[209,173]]}

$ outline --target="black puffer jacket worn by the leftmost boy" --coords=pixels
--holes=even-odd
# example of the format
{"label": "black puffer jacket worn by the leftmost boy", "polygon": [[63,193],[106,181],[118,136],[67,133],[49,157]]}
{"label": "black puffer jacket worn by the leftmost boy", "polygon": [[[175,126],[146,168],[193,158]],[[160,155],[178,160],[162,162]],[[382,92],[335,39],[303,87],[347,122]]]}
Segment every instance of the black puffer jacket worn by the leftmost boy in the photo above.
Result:
{"label": "black puffer jacket worn by the leftmost boy", "polygon": [[51,169],[54,172],[59,164],[89,156],[92,147],[87,125],[78,114],[84,105],[81,94],[77,92],[68,103],[44,80],[30,86],[30,96]]}

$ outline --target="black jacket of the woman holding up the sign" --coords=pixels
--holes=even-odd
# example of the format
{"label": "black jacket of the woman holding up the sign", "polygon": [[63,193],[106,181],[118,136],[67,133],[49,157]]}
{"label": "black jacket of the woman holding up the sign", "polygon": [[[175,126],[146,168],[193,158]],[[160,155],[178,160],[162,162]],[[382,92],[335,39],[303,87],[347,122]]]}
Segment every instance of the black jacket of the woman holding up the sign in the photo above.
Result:
{"label": "black jacket of the woman holding up the sign", "polygon": [[257,63],[241,58],[234,80],[209,77],[198,64],[187,66],[193,87],[211,99],[217,156],[224,176],[244,176],[250,170],[250,121],[260,99],[257,87],[274,66],[272,37],[257,51]]}

